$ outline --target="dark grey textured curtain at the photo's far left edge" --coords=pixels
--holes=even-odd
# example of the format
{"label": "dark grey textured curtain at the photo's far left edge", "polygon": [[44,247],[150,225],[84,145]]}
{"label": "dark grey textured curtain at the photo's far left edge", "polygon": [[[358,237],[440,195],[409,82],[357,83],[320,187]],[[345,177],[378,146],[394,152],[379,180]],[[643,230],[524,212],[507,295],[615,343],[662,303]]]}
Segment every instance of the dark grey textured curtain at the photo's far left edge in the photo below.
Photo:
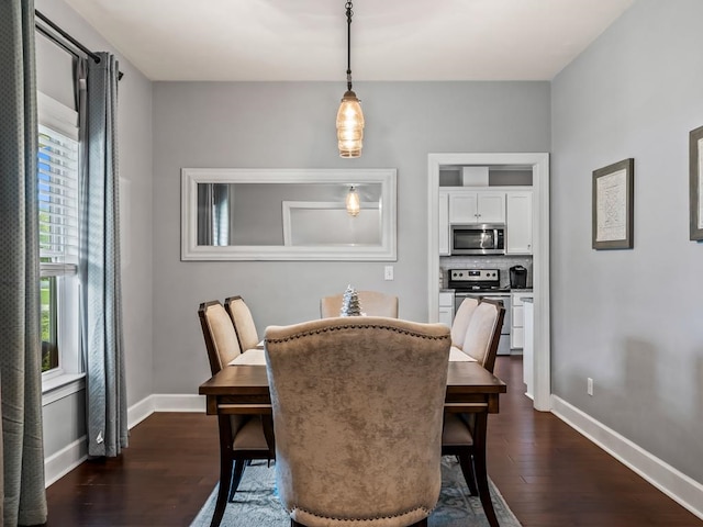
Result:
{"label": "dark grey textured curtain at the photo's far left edge", "polygon": [[0,1],[2,522],[46,522],[34,1]]}

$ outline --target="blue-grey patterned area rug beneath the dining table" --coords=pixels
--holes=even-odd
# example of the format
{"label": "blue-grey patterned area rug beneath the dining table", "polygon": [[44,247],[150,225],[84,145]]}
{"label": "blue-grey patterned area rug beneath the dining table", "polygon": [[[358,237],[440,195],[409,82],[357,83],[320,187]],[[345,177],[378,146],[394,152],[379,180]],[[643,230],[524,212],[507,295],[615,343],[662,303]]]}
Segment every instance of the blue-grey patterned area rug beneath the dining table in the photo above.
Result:
{"label": "blue-grey patterned area rug beneath the dining table", "polygon": [[[254,462],[244,471],[235,502],[228,503],[222,518],[222,527],[289,527],[290,519],[275,490],[274,467],[266,461]],[[489,481],[493,507],[501,527],[521,527],[493,482]],[[209,527],[215,507],[217,487],[190,524],[190,527]],[[442,459],[442,494],[437,508],[429,516],[429,527],[489,527],[478,496],[470,496],[455,458]]]}

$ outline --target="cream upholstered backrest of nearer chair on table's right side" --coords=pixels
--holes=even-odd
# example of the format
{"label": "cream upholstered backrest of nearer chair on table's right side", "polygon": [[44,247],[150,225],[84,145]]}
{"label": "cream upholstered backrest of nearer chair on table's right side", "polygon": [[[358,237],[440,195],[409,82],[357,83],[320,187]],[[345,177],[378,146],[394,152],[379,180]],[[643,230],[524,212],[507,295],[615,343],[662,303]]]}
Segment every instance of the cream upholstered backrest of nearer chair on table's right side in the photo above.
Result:
{"label": "cream upholstered backrest of nearer chair on table's right side", "polygon": [[502,302],[481,299],[466,329],[462,351],[473,357],[490,372],[493,372],[495,365],[504,316],[505,309]]}

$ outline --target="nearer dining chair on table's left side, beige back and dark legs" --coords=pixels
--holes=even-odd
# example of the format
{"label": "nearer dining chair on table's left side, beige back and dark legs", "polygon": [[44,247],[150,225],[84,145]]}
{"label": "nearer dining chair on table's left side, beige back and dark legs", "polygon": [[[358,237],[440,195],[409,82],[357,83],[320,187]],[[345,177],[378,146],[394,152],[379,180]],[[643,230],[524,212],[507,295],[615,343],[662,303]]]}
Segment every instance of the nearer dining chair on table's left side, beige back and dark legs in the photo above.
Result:
{"label": "nearer dining chair on table's left side, beige back and dark legs", "polygon": [[[198,316],[205,339],[205,349],[210,360],[210,371],[214,375],[242,352],[230,315],[220,301],[203,302]],[[239,486],[244,469],[253,459],[274,459],[272,425],[265,427],[260,415],[219,415],[220,427],[220,490],[210,527],[217,527],[226,502],[234,498]],[[270,419],[270,416],[269,416]],[[269,421],[270,423],[270,421]],[[267,440],[269,435],[269,440]]]}

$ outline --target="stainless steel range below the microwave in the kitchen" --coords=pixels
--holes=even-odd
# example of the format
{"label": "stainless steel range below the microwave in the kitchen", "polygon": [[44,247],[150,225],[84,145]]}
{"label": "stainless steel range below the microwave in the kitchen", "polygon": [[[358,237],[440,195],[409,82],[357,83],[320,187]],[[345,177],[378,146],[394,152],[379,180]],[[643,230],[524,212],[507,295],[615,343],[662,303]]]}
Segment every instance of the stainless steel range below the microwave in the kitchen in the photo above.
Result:
{"label": "stainless steel range below the microwave in the kitchen", "polygon": [[449,289],[454,289],[454,312],[467,298],[500,301],[505,307],[498,355],[510,355],[510,288],[501,288],[500,269],[449,269]]}

